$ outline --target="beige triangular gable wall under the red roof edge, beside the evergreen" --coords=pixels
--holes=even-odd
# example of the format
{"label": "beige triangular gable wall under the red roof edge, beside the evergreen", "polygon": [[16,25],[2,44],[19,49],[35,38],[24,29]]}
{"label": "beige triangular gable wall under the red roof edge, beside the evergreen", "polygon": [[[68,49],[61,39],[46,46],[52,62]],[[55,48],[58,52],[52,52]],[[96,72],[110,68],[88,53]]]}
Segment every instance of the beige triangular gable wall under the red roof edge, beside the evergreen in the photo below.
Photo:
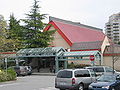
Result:
{"label": "beige triangular gable wall under the red roof edge, beside the evergreen", "polygon": [[[55,30],[54,27],[50,27],[49,30]],[[63,47],[65,49],[70,48],[70,46],[68,45],[68,43],[62,38],[62,36],[56,31],[54,36],[54,40],[52,42],[52,46],[55,47]]]}

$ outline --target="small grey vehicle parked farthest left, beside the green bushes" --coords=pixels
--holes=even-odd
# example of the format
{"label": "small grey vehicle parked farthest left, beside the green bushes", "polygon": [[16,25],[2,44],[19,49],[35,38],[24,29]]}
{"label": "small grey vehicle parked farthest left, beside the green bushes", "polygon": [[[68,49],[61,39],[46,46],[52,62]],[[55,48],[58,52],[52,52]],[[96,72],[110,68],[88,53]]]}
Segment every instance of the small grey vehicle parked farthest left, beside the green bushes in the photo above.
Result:
{"label": "small grey vehicle parked farthest left, beside the green bushes", "polygon": [[17,76],[25,76],[27,75],[27,68],[25,66],[12,66],[15,70]]}

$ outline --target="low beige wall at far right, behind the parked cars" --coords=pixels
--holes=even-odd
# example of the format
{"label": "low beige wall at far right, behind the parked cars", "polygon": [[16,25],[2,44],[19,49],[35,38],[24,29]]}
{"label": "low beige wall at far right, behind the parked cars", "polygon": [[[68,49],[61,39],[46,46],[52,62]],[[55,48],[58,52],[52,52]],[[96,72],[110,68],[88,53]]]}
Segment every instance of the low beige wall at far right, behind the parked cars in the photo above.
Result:
{"label": "low beige wall at far right, behind the parked cars", "polygon": [[[105,66],[110,66],[112,67],[112,56],[104,56],[103,58],[103,65]],[[115,70],[119,70],[120,71],[120,57],[119,59],[115,62],[114,64]]]}

